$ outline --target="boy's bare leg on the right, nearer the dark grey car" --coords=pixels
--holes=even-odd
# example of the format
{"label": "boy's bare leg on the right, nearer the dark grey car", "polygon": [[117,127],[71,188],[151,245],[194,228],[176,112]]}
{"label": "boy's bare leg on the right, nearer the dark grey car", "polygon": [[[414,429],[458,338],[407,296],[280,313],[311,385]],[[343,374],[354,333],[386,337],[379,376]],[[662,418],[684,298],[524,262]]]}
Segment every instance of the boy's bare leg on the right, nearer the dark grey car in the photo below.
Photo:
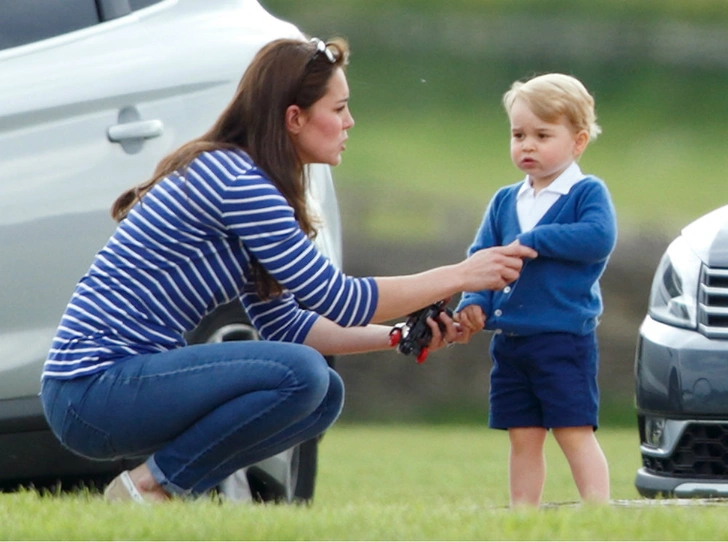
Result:
{"label": "boy's bare leg on the right, nearer the dark grey car", "polygon": [[554,429],[571,474],[581,495],[590,503],[609,502],[609,465],[591,426],[560,427]]}

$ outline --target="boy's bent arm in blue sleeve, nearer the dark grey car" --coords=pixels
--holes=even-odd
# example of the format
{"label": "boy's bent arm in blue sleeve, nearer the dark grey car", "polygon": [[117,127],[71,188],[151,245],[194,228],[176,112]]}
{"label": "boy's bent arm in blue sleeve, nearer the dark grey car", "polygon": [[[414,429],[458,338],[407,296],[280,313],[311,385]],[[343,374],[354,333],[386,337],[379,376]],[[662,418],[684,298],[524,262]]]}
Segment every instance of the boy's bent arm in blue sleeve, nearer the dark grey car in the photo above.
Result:
{"label": "boy's bent arm in blue sleeve, nearer the dark grey car", "polygon": [[522,245],[536,250],[542,258],[576,262],[605,260],[617,242],[617,220],[609,192],[594,183],[577,209],[577,221],[569,224],[542,224],[518,236]]}

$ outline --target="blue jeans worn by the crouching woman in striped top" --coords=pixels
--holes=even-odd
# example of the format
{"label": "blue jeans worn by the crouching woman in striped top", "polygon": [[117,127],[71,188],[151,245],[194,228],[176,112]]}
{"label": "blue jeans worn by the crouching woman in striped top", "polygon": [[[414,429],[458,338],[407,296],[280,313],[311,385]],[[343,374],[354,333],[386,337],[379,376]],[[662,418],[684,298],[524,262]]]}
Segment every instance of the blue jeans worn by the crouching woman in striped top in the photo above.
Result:
{"label": "blue jeans worn by the crouching woman in striped top", "polygon": [[241,341],[46,378],[41,399],[67,448],[92,459],[147,457],[162,487],[185,495],[323,433],[341,413],[344,385],[312,348]]}

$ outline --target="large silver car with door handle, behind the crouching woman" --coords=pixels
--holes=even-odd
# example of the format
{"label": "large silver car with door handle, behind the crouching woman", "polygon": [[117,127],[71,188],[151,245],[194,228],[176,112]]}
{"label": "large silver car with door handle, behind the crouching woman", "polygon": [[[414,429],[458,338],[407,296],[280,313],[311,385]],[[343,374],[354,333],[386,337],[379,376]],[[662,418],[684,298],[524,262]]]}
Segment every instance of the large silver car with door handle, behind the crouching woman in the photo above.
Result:
{"label": "large silver car with door handle, behind the crouching woman", "polygon": [[[267,42],[302,36],[254,0],[3,0],[0,6],[0,487],[104,483],[48,430],[43,361],[78,279],[114,229],[109,208],[206,131]],[[330,170],[312,166],[322,251],[341,265]],[[190,342],[255,339],[239,303]],[[332,361],[330,361],[331,363]],[[237,473],[230,498],[308,500],[317,442]]]}

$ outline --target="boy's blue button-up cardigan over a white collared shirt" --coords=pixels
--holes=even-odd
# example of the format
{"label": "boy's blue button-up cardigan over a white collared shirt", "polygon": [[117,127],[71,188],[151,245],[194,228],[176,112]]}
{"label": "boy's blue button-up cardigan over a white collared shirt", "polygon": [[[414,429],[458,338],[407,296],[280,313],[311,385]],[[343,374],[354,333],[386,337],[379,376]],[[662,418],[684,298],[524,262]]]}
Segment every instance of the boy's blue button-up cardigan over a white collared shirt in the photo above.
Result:
{"label": "boy's blue button-up cardigan over a white collared shirt", "polygon": [[463,293],[457,310],[477,303],[486,316],[485,329],[503,333],[588,333],[599,323],[599,278],[617,241],[609,191],[601,179],[586,177],[559,197],[532,230],[521,233],[516,196],[523,182],[496,192],[468,255],[518,239],[538,257],[527,260],[519,279],[503,290]]}

